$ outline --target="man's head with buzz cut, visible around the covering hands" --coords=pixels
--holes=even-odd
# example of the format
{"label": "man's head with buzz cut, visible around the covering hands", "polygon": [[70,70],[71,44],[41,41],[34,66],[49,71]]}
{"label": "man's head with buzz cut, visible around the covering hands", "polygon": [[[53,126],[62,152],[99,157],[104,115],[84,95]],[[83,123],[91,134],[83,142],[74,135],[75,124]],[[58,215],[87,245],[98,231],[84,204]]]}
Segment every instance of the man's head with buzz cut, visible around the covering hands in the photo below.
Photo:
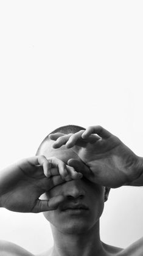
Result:
{"label": "man's head with buzz cut, visible around the covering hands", "polygon": [[[83,129],[85,130],[80,126],[63,126],[54,130],[51,134],[56,132],[71,134]],[[54,156],[63,160],[66,164],[69,159],[76,159],[82,168],[83,162],[72,148],[67,149],[66,146],[62,146],[59,149],[54,149],[52,148],[53,143],[54,141],[49,140],[48,135],[38,148],[37,155],[42,154],[47,158]],[[84,176],[82,179],[65,182],[44,194],[45,199],[59,194],[65,196],[65,201],[57,209],[44,213],[44,216],[60,232],[86,232],[98,222],[108,192],[108,189],[92,183]]]}

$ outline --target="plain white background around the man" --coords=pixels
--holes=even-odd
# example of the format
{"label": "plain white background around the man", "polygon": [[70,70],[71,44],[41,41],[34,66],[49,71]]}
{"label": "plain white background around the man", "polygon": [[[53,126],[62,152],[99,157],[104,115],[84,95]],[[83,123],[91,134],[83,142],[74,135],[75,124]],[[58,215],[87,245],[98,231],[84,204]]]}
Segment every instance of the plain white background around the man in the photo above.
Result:
{"label": "plain white background around the man", "polygon": [[[66,124],[100,124],[143,156],[142,1],[0,2],[0,168],[33,156]],[[111,190],[105,243],[143,235],[143,189]],[[52,245],[43,214],[0,210],[0,239],[34,254]]]}

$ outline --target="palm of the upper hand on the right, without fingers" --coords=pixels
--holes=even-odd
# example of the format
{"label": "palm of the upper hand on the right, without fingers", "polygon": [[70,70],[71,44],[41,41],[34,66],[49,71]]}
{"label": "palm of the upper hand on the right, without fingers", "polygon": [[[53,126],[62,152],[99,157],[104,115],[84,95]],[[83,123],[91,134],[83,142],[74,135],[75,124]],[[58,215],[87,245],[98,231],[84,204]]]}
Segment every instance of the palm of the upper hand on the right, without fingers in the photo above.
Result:
{"label": "palm of the upper hand on the right, without fingers", "polygon": [[[116,137],[95,143],[88,142],[86,145],[80,139],[77,144],[72,149],[92,171],[93,175],[89,177],[91,181],[119,187],[138,178],[133,171],[136,167],[136,155]],[[127,175],[129,173],[130,180]]]}

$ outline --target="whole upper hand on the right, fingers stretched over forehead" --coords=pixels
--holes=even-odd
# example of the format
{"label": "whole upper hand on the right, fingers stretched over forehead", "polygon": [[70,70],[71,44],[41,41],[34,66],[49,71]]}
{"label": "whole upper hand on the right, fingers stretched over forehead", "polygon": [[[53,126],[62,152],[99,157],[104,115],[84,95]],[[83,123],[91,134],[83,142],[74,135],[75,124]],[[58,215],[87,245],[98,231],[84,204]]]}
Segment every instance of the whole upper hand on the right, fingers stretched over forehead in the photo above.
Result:
{"label": "whole upper hand on the right, fingers stretched over forehead", "polygon": [[[51,134],[49,138],[55,140],[54,148],[72,148],[89,167],[84,168],[83,175],[94,183],[115,188],[132,185],[142,175],[141,157],[101,126],[90,126],[75,134]],[[77,167],[77,160],[70,159],[68,164]]]}

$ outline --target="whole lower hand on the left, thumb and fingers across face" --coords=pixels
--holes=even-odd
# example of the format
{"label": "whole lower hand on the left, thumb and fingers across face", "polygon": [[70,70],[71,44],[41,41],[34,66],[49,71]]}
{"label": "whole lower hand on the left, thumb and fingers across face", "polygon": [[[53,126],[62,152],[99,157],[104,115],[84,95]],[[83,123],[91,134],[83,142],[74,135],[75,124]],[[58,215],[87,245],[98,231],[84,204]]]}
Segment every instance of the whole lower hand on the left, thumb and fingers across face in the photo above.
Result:
{"label": "whole lower hand on the left, thumb and fingers across face", "polygon": [[82,178],[60,159],[33,156],[0,171],[0,206],[21,213],[40,213],[56,209],[63,195],[40,200],[52,187]]}

